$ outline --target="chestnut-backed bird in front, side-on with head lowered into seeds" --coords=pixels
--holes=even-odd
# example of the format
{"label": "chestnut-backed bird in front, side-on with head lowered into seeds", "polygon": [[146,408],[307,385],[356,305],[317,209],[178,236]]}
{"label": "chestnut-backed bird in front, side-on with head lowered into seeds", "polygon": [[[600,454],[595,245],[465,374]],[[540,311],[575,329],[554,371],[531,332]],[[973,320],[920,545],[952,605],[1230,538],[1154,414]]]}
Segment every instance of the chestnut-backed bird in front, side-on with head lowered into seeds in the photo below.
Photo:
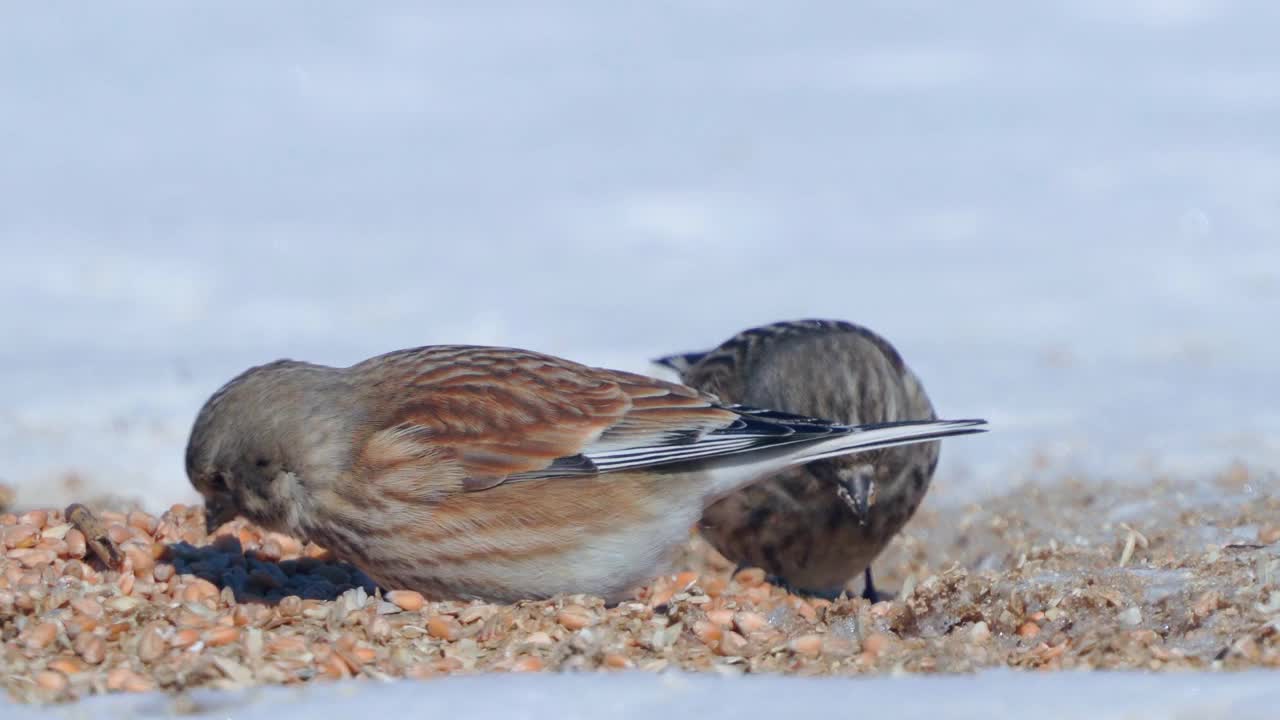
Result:
{"label": "chestnut-backed bird in front, side-on with head lowered into seeds", "polygon": [[251,368],[200,411],[187,475],[210,529],[243,515],[385,588],[620,600],[728,492],[983,424],[844,427],[538,352],[428,346]]}

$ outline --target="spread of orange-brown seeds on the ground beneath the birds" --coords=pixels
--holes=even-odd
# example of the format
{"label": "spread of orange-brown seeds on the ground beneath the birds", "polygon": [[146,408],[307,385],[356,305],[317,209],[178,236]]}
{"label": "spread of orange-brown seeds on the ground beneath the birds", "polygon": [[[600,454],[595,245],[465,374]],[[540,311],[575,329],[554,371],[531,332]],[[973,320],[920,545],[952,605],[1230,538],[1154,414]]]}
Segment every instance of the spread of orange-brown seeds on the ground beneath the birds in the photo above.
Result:
{"label": "spread of orange-brown seeds on the ground beneath the birds", "polygon": [[[698,538],[605,607],[385,594],[314,544],[198,507],[0,515],[0,685],[23,701],[366,676],[643,669],[1280,667],[1280,493],[1057,482],[931,498],[877,562],[897,598],[788,594]],[[1261,488],[1261,489],[1260,489]],[[1194,491],[1194,492],[1193,492]],[[1208,500],[1204,500],[1208,498]]]}

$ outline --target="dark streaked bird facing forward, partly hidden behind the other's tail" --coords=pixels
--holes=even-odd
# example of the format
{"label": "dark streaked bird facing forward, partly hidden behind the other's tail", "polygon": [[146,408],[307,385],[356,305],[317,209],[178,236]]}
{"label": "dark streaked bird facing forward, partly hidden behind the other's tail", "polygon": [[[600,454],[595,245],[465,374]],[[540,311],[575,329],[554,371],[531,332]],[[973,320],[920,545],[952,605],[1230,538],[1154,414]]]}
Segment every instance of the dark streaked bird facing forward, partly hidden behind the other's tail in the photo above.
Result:
{"label": "dark streaked bird facing forward, partly hidden behind the other's tail", "polygon": [[[888,341],[840,320],[774,323],[707,352],[655,361],[724,402],[849,424],[936,418]],[[796,592],[838,596],[864,573],[863,594],[874,601],[872,561],[919,507],[940,445],[792,464],[713,503],[699,529],[731,561],[762,568]]]}

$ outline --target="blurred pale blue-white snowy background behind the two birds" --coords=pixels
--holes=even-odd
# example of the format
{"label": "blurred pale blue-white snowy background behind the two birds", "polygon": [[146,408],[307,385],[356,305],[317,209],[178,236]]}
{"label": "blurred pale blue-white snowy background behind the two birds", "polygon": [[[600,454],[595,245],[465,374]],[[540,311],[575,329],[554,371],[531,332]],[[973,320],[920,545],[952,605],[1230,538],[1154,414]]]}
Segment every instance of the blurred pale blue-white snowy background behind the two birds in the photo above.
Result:
{"label": "blurred pale blue-white snowy background behind the two birds", "polygon": [[805,316],[992,420],[948,496],[1277,466],[1274,1],[452,5],[4,6],[23,503],[188,500],[201,402],[280,356],[645,372]]}

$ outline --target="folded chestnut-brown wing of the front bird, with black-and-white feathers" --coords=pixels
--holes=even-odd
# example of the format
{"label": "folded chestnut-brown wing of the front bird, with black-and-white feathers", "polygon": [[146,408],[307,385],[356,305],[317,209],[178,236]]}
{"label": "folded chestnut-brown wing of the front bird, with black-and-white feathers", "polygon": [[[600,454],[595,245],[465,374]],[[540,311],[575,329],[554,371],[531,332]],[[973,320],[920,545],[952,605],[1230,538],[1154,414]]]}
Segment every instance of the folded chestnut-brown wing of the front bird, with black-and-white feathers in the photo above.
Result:
{"label": "folded chestnut-brown wing of the front bird, with black-and-white feathers", "polygon": [[[378,361],[369,377],[396,410],[365,441],[360,462],[403,482],[429,470],[430,482],[443,483],[438,491],[701,460],[847,432],[522,350],[433,346]],[[445,469],[454,471],[445,478]]]}

